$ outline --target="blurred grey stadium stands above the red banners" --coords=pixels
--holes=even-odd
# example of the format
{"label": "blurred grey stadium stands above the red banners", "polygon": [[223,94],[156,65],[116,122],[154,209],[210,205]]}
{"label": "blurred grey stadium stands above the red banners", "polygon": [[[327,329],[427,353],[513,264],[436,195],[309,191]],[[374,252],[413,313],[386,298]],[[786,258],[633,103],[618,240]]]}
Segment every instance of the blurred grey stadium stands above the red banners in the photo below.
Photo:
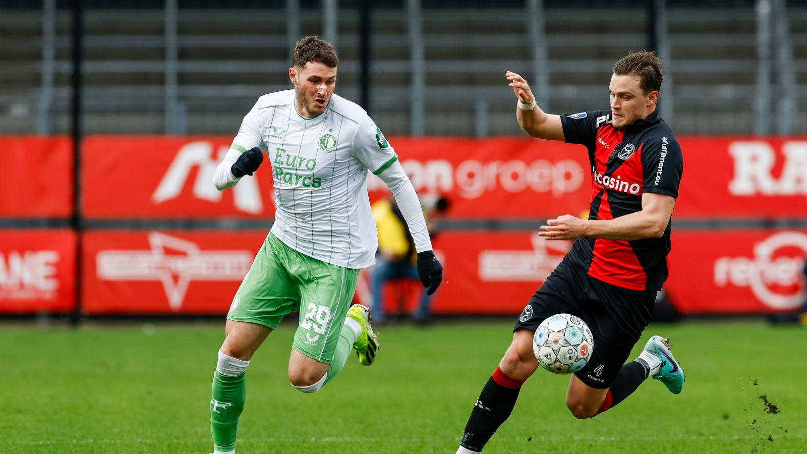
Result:
{"label": "blurred grey stadium stands above the red banners", "polygon": [[[795,11],[795,10],[794,10]],[[165,11],[86,13],[85,131],[166,131]],[[528,19],[521,8],[423,10],[425,133],[475,136],[521,133],[504,71],[530,80]],[[753,131],[757,78],[756,19],[751,7],[668,10],[674,117],[679,134]],[[319,8],[303,8],[300,32],[321,32]],[[546,9],[550,110],[608,107],[613,62],[648,45],[643,8]],[[69,130],[69,11],[56,12],[51,132]],[[43,130],[42,11],[0,14],[0,133]],[[358,13],[339,12],[337,93],[358,99]],[[807,73],[807,15],[790,15],[797,70]],[[286,11],[178,11],[175,132],[231,134],[258,95],[291,87],[286,78]],[[405,9],[373,13],[371,111],[388,134],[408,134],[410,44]],[[772,81],[776,83],[776,74]],[[805,92],[805,86],[800,93]],[[776,86],[774,86],[776,93]],[[668,96],[669,94],[665,93]],[[801,111],[797,118],[804,118]],[[795,121],[793,132],[807,132]],[[39,126],[38,126],[39,125]]]}

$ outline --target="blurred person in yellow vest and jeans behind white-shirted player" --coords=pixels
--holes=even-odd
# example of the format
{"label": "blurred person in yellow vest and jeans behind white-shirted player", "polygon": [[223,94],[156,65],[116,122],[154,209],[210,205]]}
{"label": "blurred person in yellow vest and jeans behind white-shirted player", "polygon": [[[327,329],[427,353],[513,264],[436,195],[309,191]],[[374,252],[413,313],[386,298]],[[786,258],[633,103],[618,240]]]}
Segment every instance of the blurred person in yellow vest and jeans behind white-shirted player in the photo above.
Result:
{"label": "blurred person in yellow vest and jeans behind white-shirted player", "polygon": [[[434,218],[448,208],[448,202],[435,196],[426,195],[420,200],[426,217],[426,226],[434,239],[436,229]],[[418,282],[415,243],[409,233],[403,214],[391,195],[387,199],[378,200],[372,205],[373,219],[378,228],[378,254],[375,266],[370,271],[370,287],[373,293],[373,322],[384,322],[383,284],[388,280],[413,279]],[[405,295],[398,295],[405,298]],[[412,318],[416,323],[431,322],[432,296],[422,289],[420,304]]]}

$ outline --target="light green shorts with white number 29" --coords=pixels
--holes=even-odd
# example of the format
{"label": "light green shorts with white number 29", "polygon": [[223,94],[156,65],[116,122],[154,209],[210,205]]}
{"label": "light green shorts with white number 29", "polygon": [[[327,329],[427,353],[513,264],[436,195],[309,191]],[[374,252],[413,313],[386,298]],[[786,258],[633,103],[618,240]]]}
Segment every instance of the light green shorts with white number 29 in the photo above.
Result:
{"label": "light green shorts with white number 29", "polygon": [[241,281],[227,318],[274,330],[286,314],[299,310],[291,347],[331,364],[357,279],[358,270],[300,254],[270,233]]}

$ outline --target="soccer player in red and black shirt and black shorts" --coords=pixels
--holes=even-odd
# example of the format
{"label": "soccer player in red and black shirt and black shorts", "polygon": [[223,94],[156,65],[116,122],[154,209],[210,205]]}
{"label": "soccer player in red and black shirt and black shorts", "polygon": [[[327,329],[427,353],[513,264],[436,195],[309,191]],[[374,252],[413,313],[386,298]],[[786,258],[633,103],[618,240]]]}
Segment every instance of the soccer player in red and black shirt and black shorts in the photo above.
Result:
{"label": "soccer player in red and black shirt and black shorts", "polygon": [[592,356],[569,382],[566,404],[575,417],[592,418],[616,406],[649,376],[675,394],[684,385],[669,339],[650,338],[642,354],[625,364],[667,280],[672,208],[684,170],[678,141],[656,112],[661,61],[647,52],[617,61],[610,111],[549,115],[536,106],[524,78],[508,71],[507,79],[525,132],[586,147],[592,202],[587,220],[565,215],[541,226],[547,240],[575,243],[518,318],[510,347],[471,411],[458,454],[482,452],[508,418],[521,385],[538,367],[533,334],[556,313],[582,318],[594,336]]}

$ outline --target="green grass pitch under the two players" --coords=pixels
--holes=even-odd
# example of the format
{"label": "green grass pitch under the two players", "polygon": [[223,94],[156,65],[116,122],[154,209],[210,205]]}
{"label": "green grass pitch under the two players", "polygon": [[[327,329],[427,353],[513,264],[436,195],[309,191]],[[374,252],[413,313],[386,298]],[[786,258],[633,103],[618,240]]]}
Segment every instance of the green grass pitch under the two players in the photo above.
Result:
{"label": "green grass pitch under the two players", "polygon": [[[383,327],[376,364],[353,356],[307,395],[288,383],[294,327],[281,326],[249,366],[238,452],[453,454],[511,327]],[[807,330],[650,326],[634,353],[652,334],[672,338],[687,371],[679,396],[648,380],[613,410],[580,421],[564,404],[568,377],[539,370],[485,453],[807,452]],[[151,334],[140,325],[0,327],[0,452],[211,452],[222,338],[223,322],[157,324]],[[761,394],[779,414],[763,411]]]}

